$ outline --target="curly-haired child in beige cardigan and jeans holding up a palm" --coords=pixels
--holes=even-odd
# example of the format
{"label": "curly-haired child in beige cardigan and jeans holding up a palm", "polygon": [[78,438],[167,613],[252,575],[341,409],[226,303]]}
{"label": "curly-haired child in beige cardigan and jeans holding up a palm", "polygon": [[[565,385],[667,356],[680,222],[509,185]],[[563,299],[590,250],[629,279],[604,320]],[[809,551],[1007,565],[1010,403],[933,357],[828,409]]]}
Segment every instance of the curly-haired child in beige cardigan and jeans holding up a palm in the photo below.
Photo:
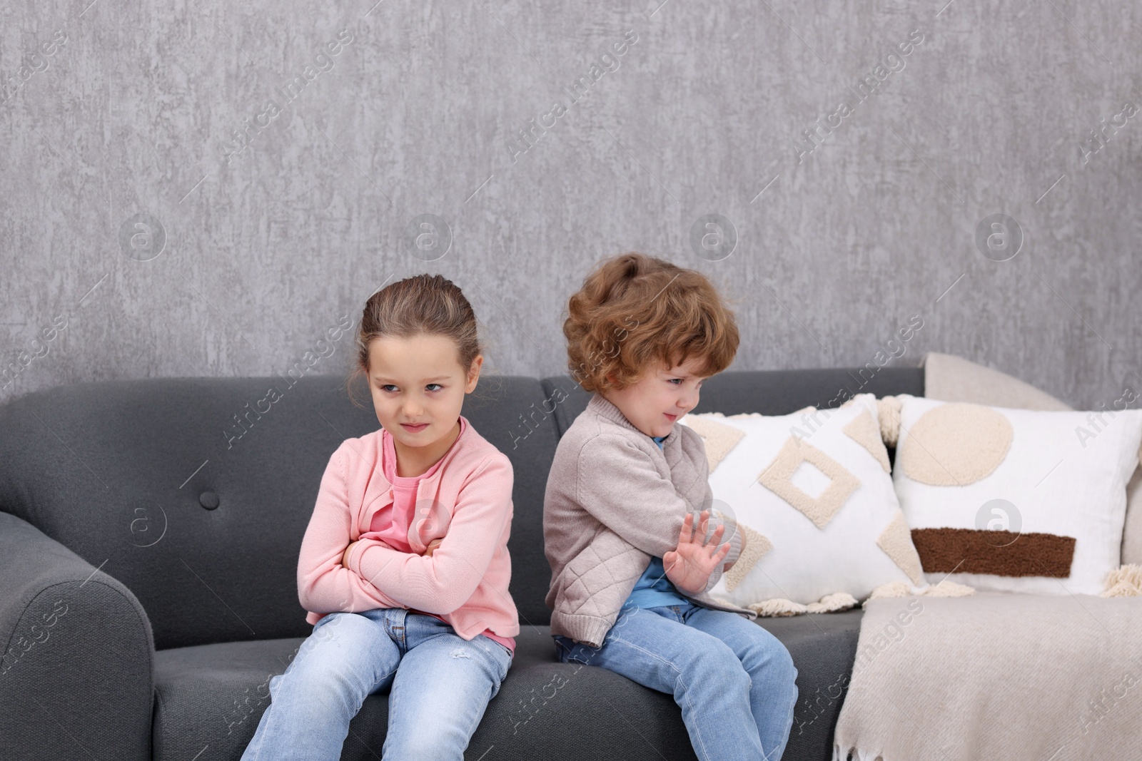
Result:
{"label": "curly-haired child in beige cardigan and jeans holding up a palm", "polygon": [[544,499],[556,655],[673,694],[702,761],[777,761],[797,670],[756,613],[709,597],[743,536],[707,542],[706,450],[674,424],[733,362],[733,314],[701,274],[641,253],[604,261],[569,311],[570,367],[594,394]]}

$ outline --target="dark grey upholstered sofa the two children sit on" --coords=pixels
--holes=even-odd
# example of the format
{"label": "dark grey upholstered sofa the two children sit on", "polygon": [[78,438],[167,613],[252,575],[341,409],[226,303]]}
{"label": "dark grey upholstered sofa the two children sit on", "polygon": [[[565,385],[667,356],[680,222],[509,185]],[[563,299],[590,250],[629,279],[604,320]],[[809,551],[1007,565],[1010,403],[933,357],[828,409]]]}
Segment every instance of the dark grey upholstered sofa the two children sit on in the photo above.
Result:
{"label": "dark grey upholstered sofa the two children sit on", "polygon": [[[868,367],[726,372],[695,412],[924,392],[922,369]],[[259,402],[271,386],[281,398]],[[465,416],[515,469],[522,631],[467,758],[694,759],[669,695],[555,659],[544,487],[588,396],[565,375],[483,378],[476,394]],[[376,427],[332,375],[85,383],[0,407],[0,758],[238,759],[311,630],[296,567],[325,463]],[[785,759],[830,758],[860,615],[758,618],[798,670]],[[343,759],[380,758],[387,699],[365,701]]]}

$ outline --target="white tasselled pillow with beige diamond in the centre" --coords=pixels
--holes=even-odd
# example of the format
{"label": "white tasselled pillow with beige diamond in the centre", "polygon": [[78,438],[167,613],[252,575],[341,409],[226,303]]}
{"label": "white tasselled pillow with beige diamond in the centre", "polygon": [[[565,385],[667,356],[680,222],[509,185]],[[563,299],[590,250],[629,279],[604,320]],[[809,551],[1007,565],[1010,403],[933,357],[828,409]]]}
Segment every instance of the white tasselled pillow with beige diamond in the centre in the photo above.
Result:
{"label": "white tasselled pillow with beige diamond in the centre", "polygon": [[[822,598],[855,600],[888,582],[924,586],[900,510],[876,397],[789,415],[687,414],[706,444],[715,508],[725,503],[746,535],[741,558],[710,590],[737,605],[788,600],[775,615]],[[822,605],[825,607],[822,607]],[[757,609],[757,608],[755,608]]]}

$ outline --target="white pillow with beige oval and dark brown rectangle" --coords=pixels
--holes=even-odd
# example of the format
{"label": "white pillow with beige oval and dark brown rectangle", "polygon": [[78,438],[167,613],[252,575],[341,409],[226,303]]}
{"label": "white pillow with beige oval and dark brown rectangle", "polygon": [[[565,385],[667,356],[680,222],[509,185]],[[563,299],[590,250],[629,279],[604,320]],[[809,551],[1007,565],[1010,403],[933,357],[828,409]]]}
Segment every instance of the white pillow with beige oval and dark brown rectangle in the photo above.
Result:
{"label": "white pillow with beige oval and dark brown rectangle", "polygon": [[1103,590],[1119,565],[1142,411],[895,399],[893,481],[930,582],[1031,594]]}

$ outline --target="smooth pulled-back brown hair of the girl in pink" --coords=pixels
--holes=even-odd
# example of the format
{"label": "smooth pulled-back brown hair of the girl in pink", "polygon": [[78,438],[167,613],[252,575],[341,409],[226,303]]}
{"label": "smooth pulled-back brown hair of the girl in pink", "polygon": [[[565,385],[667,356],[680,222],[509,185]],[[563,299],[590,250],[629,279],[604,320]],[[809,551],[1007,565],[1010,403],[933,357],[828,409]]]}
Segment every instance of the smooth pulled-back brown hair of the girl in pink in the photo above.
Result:
{"label": "smooth pulled-back brown hair of the girl in pink", "polygon": [[444,335],[456,343],[457,362],[465,377],[484,345],[476,330],[476,313],[464,292],[443,275],[405,277],[369,297],[356,331],[356,356],[348,379],[349,398],[354,381],[365,378],[368,388],[369,345],[377,338],[412,338]]}

